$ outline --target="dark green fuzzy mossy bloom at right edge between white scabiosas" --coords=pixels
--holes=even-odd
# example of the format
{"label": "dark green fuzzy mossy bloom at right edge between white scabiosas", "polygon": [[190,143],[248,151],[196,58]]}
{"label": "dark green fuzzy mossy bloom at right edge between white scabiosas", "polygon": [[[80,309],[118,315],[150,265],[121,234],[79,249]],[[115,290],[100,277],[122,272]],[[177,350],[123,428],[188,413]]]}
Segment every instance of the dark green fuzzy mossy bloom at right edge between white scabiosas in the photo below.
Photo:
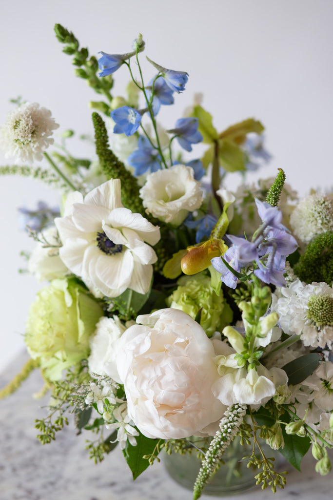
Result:
{"label": "dark green fuzzy mossy bloom at right edge between white scabiosas", "polygon": [[320,234],[312,240],[298,263],[294,272],[306,283],[326,281],[333,283],[333,232]]}

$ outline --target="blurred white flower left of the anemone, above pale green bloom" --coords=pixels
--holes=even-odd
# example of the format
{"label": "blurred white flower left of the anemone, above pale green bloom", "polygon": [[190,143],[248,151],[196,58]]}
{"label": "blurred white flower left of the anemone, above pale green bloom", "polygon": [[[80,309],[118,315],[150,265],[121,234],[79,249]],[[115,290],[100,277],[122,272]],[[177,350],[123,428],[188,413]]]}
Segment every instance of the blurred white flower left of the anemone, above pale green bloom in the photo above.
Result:
{"label": "blurred white flower left of the anemone, above pale green bloom", "polygon": [[29,257],[28,271],[34,274],[38,281],[51,281],[63,277],[68,267],[59,257],[56,227],[52,225],[43,229],[40,238],[42,241],[38,241]]}

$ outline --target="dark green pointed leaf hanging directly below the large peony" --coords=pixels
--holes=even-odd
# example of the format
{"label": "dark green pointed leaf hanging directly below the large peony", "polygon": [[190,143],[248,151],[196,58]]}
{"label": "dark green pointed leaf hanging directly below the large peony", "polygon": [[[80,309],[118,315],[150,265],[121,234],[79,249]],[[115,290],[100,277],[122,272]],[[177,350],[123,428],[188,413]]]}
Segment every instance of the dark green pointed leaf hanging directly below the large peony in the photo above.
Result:
{"label": "dark green pointed leaf hanging directly below the large peony", "polygon": [[[150,455],[156,446],[158,439],[150,439],[149,437],[140,434],[135,436],[136,446],[132,446],[128,441],[123,454],[132,471],[133,480],[136,479],[149,465],[147,458],[142,458],[143,455]],[[163,442],[163,441],[161,441]]]}

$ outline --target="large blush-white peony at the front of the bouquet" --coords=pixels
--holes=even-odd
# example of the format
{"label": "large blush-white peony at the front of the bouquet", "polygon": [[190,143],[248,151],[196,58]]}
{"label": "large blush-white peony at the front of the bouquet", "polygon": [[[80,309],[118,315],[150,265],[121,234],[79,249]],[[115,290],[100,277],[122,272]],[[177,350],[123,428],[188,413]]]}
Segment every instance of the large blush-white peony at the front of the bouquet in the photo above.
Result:
{"label": "large blush-white peony at the front of the bouquet", "polygon": [[128,414],[147,437],[180,439],[221,419],[226,406],[211,387],[219,378],[214,346],[186,312],[137,317],[118,340],[117,368]]}

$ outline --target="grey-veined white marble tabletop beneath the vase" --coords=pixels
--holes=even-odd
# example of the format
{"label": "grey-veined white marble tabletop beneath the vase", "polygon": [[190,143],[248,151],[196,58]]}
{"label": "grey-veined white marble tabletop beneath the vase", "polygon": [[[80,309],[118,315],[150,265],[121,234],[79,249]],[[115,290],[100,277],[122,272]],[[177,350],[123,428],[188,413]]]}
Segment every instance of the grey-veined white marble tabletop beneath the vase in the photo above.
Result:
{"label": "grey-veined white marble tabletop beneath the vase", "polygon": [[[0,387],[19,371],[26,358],[24,353],[10,363],[0,375]],[[47,398],[36,401],[32,397],[41,386],[35,370],[14,394],[0,401],[0,500],[191,500],[192,492],[170,479],[162,461],[135,481],[119,447],[95,465],[84,449],[85,439],[91,434],[76,436],[70,425],[54,442],[41,445],[35,438],[33,422],[44,414],[39,406],[46,404]],[[287,486],[275,495],[258,487],[231,498],[332,498],[333,471],[325,477],[317,474],[311,453],[302,462],[302,473],[289,465],[286,468]]]}

